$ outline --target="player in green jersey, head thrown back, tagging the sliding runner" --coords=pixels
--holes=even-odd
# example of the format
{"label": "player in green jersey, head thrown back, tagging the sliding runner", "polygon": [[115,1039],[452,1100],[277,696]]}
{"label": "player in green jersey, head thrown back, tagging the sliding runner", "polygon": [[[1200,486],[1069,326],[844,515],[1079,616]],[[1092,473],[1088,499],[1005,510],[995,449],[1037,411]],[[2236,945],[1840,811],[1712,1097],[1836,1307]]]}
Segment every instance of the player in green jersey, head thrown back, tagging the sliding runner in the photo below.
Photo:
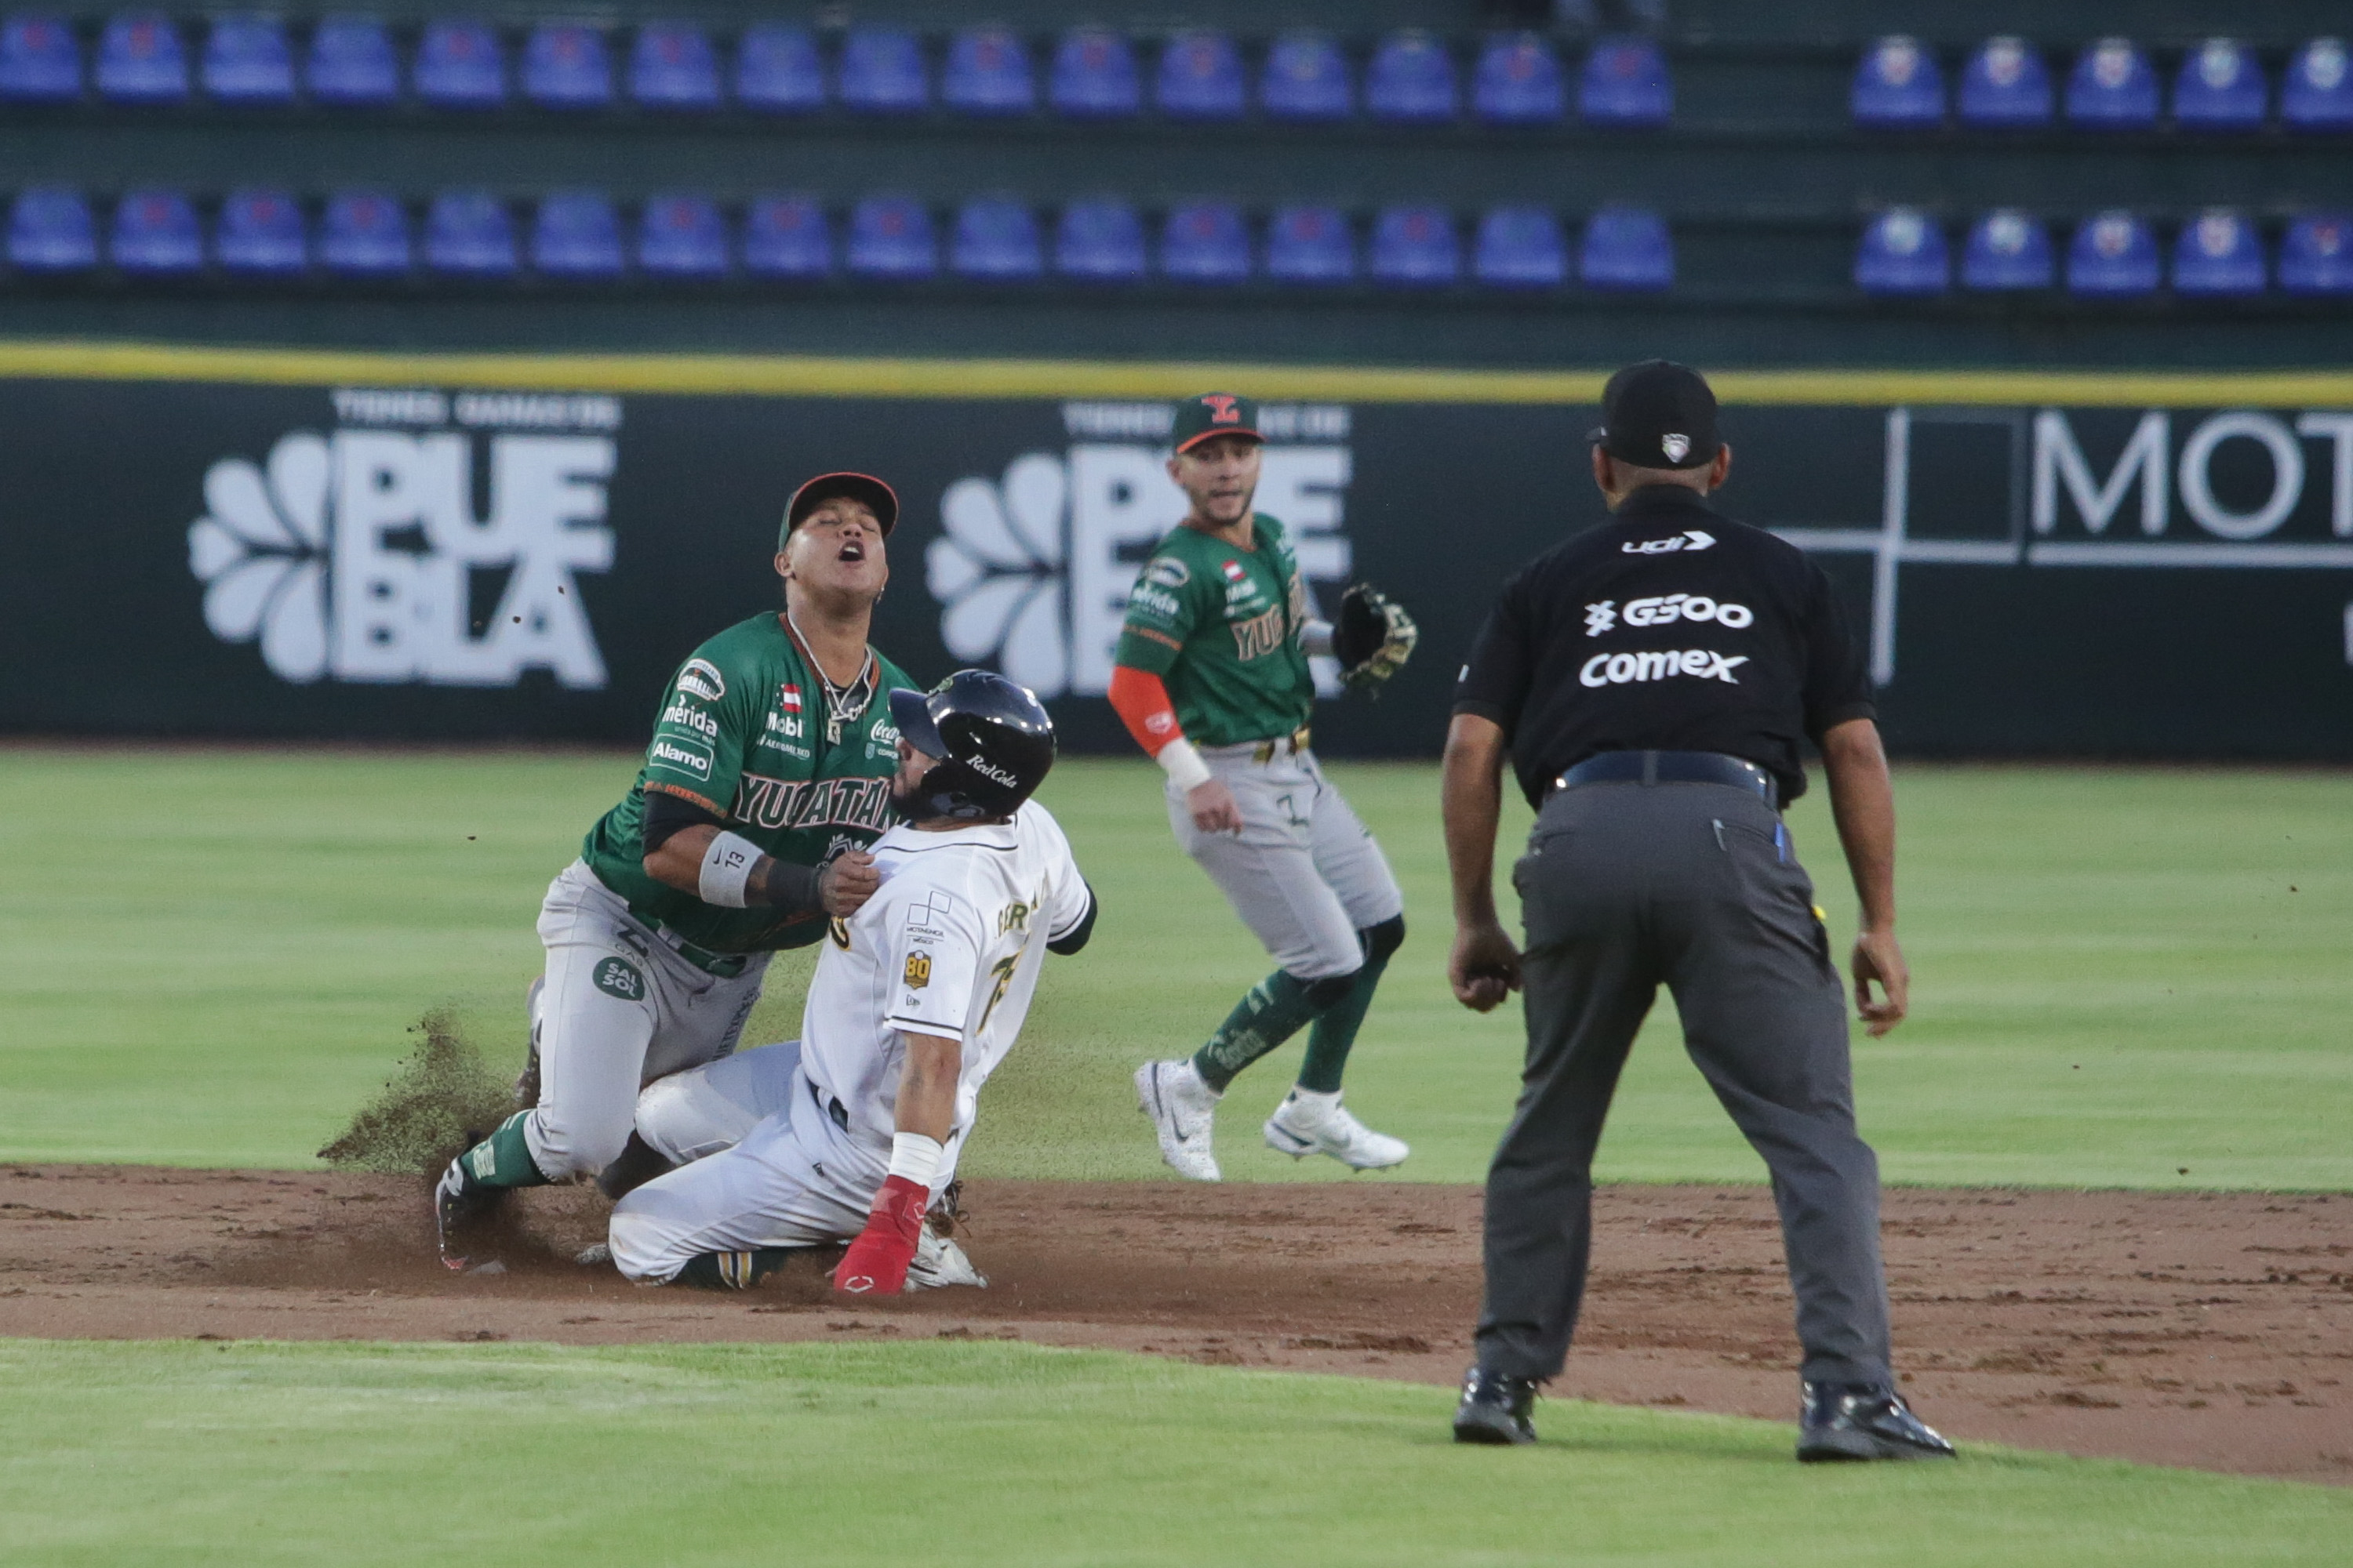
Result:
{"label": "player in green jersey, head thrown back, tagging the sliding runner", "polygon": [[602,1175],[619,1197],[668,1168],[633,1143],[638,1091],[732,1053],[769,954],[819,940],[880,884],[866,846],[889,825],[899,766],[887,693],[915,686],[866,644],[896,520],[899,498],[868,475],[793,494],[776,531],[784,609],[678,668],[635,783],[548,884],[525,1110],[440,1178],[449,1267],[466,1265],[466,1222],[513,1187]]}

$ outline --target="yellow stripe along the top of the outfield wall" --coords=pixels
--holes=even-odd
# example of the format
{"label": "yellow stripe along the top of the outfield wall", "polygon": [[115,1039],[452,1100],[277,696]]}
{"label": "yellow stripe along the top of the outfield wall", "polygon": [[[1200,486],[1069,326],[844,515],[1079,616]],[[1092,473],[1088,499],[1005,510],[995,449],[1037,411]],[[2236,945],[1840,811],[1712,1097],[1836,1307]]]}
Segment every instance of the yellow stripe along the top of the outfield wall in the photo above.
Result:
{"label": "yellow stripe along the top of the outfield wall", "polygon": [[[849,360],[812,355],[539,355],[0,343],[0,378],[247,386],[473,386],[560,393],[765,397],[1184,397],[1591,404],[1602,369],[1471,371],[1111,360]],[[2344,371],[1711,371],[1739,404],[2344,407]]]}

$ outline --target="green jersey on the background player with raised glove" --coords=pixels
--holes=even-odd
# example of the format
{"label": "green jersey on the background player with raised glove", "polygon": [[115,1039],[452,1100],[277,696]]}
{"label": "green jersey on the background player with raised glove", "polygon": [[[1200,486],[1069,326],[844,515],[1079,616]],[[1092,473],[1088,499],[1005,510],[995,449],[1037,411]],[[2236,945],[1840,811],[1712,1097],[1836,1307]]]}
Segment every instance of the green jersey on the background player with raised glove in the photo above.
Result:
{"label": "green jersey on the background player with raised glove", "polygon": [[1280,522],[1252,515],[1249,550],[1176,527],[1127,595],[1118,661],[1162,679],[1191,741],[1268,741],[1306,724],[1315,701],[1306,623],[1308,590]]}

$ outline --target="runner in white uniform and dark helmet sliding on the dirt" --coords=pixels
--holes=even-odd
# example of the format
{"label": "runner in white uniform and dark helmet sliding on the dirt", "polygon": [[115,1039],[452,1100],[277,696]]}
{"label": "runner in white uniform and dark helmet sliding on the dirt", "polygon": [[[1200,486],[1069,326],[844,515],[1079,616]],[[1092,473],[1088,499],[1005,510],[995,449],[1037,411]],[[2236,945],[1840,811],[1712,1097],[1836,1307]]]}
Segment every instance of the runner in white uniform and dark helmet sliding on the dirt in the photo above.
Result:
{"label": "runner in white uniform and dark helmet sliding on the dirt", "polygon": [[680,1168],[612,1211],[640,1284],[748,1288],[795,1248],[849,1241],[847,1295],[981,1286],[925,1213],[955,1180],[981,1086],[1021,1034],[1047,952],[1078,952],[1094,893],[1031,802],[1054,724],[1002,675],[892,691],[901,823],[882,891],[833,922],[800,1039],[647,1088],[638,1133]]}

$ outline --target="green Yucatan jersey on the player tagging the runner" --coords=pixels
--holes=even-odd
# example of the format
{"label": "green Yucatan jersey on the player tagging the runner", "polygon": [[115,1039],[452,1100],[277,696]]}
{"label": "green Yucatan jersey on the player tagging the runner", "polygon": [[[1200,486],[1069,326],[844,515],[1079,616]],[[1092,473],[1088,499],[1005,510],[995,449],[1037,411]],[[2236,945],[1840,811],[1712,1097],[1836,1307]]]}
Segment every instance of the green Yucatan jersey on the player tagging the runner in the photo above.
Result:
{"label": "green Yucatan jersey on the player tagging the runner", "polygon": [[913,686],[875,654],[875,691],[840,738],[826,733],[826,682],[802,656],[784,616],[762,611],[711,637],[678,668],[654,719],[645,766],[619,806],[598,818],[581,858],[598,882],[713,952],[805,947],[826,933],[819,914],[722,910],[645,875],[645,792],[661,790],[713,811],[727,832],[793,865],[835,849],[866,849],[889,827],[889,780],[899,729],[887,691]]}

